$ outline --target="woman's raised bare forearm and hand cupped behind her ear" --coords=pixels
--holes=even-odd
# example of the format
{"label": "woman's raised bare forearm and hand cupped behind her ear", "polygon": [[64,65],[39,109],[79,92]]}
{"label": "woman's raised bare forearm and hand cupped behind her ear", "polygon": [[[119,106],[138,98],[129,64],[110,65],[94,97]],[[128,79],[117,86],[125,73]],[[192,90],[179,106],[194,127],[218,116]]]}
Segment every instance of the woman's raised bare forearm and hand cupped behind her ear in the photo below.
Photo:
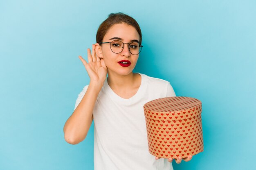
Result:
{"label": "woman's raised bare forearm and hand cupped behind her ear", "polygon": [[108,71],[104,59],[96,56],[94,44],[92,44],[92,54],[90,48],[87,49],[87,52],[88,63],[81,56],[79,56],[79,59],[88,72],[90,83],[81,102],[68,118],[63,129],[65,140],[70,144],[78,144],[85,139],[92,124],[95,102],[106,80]]}

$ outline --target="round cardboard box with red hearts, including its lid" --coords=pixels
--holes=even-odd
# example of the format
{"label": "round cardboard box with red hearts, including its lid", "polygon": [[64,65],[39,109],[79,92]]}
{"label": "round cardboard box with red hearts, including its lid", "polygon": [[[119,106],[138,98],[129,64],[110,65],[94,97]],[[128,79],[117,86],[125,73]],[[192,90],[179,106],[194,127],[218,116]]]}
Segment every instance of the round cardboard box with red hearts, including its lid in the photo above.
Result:
{"label": "round cardboard box with red hearts, including its lid", "polygon": [[200,100],[183,96],[158,98],[143,108],[150,154],[177,159],[204,150]]}

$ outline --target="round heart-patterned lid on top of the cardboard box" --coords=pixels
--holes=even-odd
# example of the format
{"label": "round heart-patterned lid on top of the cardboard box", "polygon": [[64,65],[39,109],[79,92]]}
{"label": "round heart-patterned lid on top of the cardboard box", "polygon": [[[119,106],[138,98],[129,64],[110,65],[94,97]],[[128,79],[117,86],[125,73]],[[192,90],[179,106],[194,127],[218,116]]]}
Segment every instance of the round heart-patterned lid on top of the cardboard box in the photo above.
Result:
{"label": "round heart-patterned lid on top of the cardboard box", "polygon": [[202,102],[196,98],[176,96],[158,98],[144,106],[146,118],[161,121],[181,121],[198,116],[202,112]]}

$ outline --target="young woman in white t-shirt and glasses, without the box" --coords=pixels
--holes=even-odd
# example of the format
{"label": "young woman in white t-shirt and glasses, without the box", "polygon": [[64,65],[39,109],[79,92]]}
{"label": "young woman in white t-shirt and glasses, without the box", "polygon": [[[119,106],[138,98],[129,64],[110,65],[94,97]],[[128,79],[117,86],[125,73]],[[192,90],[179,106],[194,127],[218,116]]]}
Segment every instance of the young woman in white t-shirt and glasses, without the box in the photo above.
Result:
{"label": "young woman in white t-shirt and glasses, without the box", "polygon": [[[148,152],[143,105],[175,92],[168,81],[132,72],[141,40],[139,24],[132,17],[111,13],[99,26],[92,53],[88,48],[88,63],[79,56],[90,83],[78,95],[64,136],[68,143],[78,144],[94,119],[95,170],[173,169],[171,158],[159,159]],[[191,159],[189,155],[183,160]]]}

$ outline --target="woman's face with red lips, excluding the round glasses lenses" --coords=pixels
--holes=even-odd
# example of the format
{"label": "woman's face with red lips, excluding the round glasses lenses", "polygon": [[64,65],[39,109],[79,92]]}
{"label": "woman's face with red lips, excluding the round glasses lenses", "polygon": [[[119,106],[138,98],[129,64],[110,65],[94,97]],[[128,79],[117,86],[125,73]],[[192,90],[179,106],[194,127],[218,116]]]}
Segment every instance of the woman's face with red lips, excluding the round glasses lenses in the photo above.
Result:
{"label": "woman's face with red lips, excluding the round glasses lenses", "polygon": [[[113,40],[120,40],[123,43],[131,43],[134,40],[139,42],[139,34],[133,26],[124,23],[115,24],[108,30],[102,42],[111,42]],[[139,54],[131,54],[128,46],[129,44],[124,44],[122,52],[116,54],[110,49],[109,43],[101,44],[102,58],[109,74],[128,75],[135,68]],[[122,66],[122,64],[119,64],[122,60],[130,61],[130,65]]]}

